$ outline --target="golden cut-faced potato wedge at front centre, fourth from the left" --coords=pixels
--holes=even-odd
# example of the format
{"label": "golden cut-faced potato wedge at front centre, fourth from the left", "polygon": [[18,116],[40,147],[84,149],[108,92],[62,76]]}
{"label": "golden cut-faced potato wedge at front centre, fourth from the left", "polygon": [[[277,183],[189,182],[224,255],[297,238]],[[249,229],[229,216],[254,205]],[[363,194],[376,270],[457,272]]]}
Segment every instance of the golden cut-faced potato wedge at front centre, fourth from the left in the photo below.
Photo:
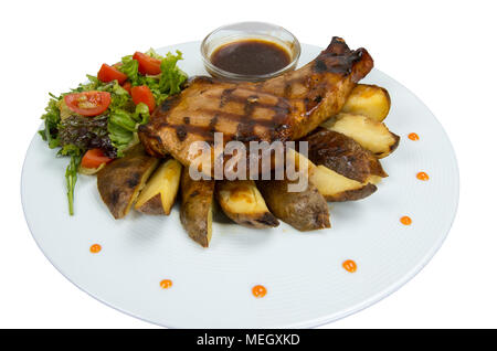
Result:
{"label": "golden cut-faced potato wedge at front centre, fourth from the left", "polygon": [[255,228],[278,226],[253,180],[215,182],[215,199],[233,222]]}

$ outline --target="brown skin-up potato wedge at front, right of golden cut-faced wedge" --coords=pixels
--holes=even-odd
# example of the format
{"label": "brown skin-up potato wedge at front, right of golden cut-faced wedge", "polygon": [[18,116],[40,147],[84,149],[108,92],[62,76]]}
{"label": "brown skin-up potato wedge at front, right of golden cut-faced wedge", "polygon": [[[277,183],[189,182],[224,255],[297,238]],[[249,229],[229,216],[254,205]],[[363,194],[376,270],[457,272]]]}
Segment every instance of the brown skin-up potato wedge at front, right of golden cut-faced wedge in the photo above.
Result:
{"label": "brown skin-up potato wedge at front, right of golden cut-faced wedge", "polygon": [[330,227],[326,200],[316,187],[308,183],[302,192],[288,192],[288,180],[261,180],[257,188],[271,212],[298,231]]}

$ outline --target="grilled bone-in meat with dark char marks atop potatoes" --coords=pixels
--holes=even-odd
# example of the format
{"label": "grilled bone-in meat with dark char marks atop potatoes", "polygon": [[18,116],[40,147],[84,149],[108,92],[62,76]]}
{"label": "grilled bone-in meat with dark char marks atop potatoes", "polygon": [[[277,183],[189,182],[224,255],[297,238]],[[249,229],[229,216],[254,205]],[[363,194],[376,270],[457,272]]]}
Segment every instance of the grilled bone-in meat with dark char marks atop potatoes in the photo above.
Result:
{"label": "grilled bone-in meat with dark char marks atop potatoes", "polygon": [[195,158],[192,142],[212,143],[216,131],[224,143],[296,140],[339,113],[372,66],[364,49],[351,51],[334,38],[307,65],[265,82],[198,76],[154,111],[139,137],[152,156],[170,153],[184,166]]}

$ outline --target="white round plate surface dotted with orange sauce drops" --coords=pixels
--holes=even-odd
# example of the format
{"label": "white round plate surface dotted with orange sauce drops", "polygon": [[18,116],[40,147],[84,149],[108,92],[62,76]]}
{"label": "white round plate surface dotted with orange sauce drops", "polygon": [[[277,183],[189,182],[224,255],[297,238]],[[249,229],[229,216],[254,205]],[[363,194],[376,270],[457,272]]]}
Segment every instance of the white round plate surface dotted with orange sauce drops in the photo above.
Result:
{"label": "white round plate surface dotted with orange sauce drops", "polygon": [[[180,50],[189,75],[205,74],[200,42]],[[320,49],[303,45],[300,64]],[[412,278],[441,246],[458,200],[458,171],[443,128],[423,103],[374,70],[367,83],[385,87],[385,124],[401,137],[382,159],[389,178],[362,201],[330,204],[331,228],[300,233],[285,223],[250,230],[214,223],[209,248],[189,238],[178,205],[169,216],[131,211],[115,221],[95,177],[80,176],[75,215],[67,214],[64,171],[34,136],[22,172],[22,204],[40,248],[77,287],[120,311],[177,328],[302,328],[329,322],[388,296]],[[420,140],[408,138],[416,132]],[[429,181],[420,181],[424,171]],[[412,224],[401,224],[408,215]],[[93,244],[102,245],[92,254]],[[357,270],[342,263],[352,259]],[[160,281],[172,286],[162,289]],[[252,288],[267,294],[255,298]]]}

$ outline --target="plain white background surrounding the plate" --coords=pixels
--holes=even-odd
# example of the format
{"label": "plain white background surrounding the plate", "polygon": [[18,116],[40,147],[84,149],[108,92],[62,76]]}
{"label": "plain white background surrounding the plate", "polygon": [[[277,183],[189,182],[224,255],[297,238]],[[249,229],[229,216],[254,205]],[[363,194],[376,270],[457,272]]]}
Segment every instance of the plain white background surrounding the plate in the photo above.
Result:
{"label": "plain white background surrounding the plate", "polygon": [[[377,305],[321,328],[497,327],[497,24],[494,1],[2,1],[0,327],[158,328],[77,289],[25,224],[20,178],[47,93],[124,54],[201,40],[225,23],[273,22],[303,43],[364,46],[416,94],[455,148],[459,209],[431,263]],[[50,204],[50,202],[47,202]],[[61,209],[64,211],[65,209]],[[56,225],[56,223],[54,223]],[[67,233],[70,235],[71,233]]]}

